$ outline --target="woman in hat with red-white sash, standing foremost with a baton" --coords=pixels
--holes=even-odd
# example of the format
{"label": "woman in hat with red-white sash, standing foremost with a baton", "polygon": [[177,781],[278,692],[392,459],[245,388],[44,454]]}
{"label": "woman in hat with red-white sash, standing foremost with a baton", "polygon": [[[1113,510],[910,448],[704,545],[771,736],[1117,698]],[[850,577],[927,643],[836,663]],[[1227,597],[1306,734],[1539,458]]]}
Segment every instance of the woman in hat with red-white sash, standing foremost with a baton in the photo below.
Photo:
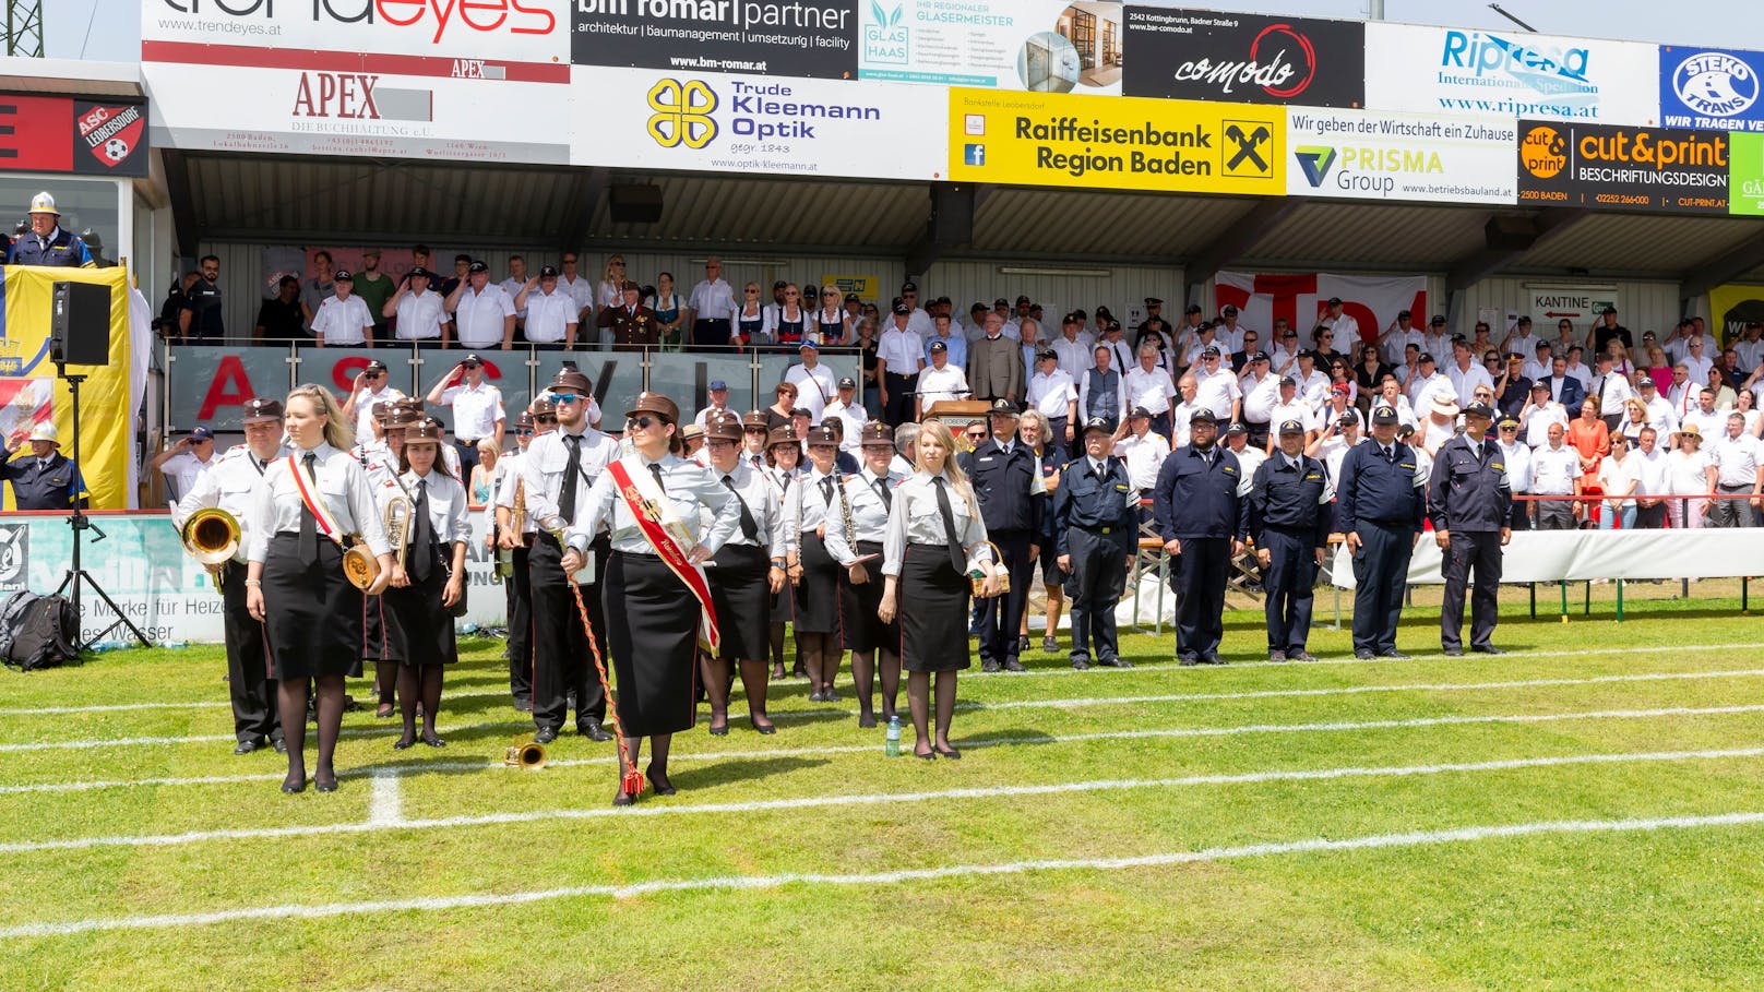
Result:
{"label": "woman in hat with red-white sash, standing foremost with a baton", "polygon": [[[587,544],[602,524],[612,530],[612,554],[602,579],[605,602],[605,639],[612,651],[612,671],[617,681],[619,791],[612,805],[628,807],[637,801],[642,778],[637,777],[637,757],[642,740],[649,738],[649,784],[662,796],[676,793],[667,777],[669,745],[674,734],[690,731],[697,718],[697,648],[702,604],[686,584],[704,561],[741,530],[741,510],[736,496],[721,480],[697,462],[679,457],[679,408],[672,399],[644,392],[624,415],[624,436],[635,452],[607,466],[594,480],[587,500],[577,505],[575,521],[564,535],[570,551],[563,556],[563,572],[575,574],[587,554]],[[619,471],[614,471],[619,470]],[[626,475],[626,482],[617,478]],[[626,498],[644,496],[640,510],[654,514],[663,540],[672,538],[684,563],[676,572],[651,540]],[[647,507],[649,500],[656,507]],[[665,503],[662,503],[665,500]],[[707,524],[700,535],[700,512]]]}

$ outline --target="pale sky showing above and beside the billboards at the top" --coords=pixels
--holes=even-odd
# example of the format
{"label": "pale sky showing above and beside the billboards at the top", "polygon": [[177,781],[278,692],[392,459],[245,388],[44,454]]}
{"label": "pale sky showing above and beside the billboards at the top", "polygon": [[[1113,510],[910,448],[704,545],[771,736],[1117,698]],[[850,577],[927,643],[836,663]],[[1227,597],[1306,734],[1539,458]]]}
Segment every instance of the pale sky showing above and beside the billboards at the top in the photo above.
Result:
{"label": "pale sky showing above and beside the billboards at the top", "polygon": [[[164,0],[150,0],[162,4]],[[566,7],[568,0],[552,0]],[[1007,4],[1009,0],[998,0]],[[141,49],[143,0],[44,0],[44,53],[53,58],[134,62]],[[1173,4],[1161,4],[1173,5]],[[1764,49],[1764,18],[1757,0],[1700,0],[1662,14],[1658,0],[1508,0],[1501,4],[1545,34],[1616,37],[1662,44],[1720,44]],[[1281,0],[1277,4],[1214,2],[1215,11],[1281,11],[1312,18],[1364,18],[1364,0]],[[1485,2],[1387,0],[1392,21],[1512,28]],[[90,25],[90,35],[88,35]]]}

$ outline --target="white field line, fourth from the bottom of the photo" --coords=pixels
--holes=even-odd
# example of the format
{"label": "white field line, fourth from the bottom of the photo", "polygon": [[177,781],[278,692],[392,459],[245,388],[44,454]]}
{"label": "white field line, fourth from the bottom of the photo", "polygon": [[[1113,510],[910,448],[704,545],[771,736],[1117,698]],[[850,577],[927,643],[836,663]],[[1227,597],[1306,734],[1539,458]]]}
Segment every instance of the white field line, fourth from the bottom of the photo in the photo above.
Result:
{"label": "white field line, fourth from the bottom of the photo", "polygon": [[[1591,678],[1533,678],[1533,680],[1508,680],[1508,681],[1411,681],[1399,685],[1346,685],[1335,688],[1256,688],[1247,692],[1182,692],[1182,694],[1164,694],[1164,695],[1088,695],[1076,699],[1016,699],[1002,703],[958,703],[956,710],[963,711],[988,711],[988,710],[1074,710],[1083,706],[1131,706],[1141,703],[1217,703],[1224,699],[1272,699],[1272,697],[1318,697],[1318,695],[1362,695],[1369,692],[1475,692],[1482,688],[1559,688],[1570,685],[1611,685],[1611,683],[1632,683],[1632,681],[1692,681],[1692,680],[1709,680],[1709,678],[1753,678],[1764,676],[1764,669],[1720,669],[1720,671],[1702,671],[1702,673],[1637,673],[1637,674],[1602,674]],[[852,715],[852,710],[790,710],[781,713],[773,713],[773,720],[808,720],[815,717],[826,717],[827,713]],[[730,715],[730,720],[737,717]],[[445,727],[446,733],[457,733],[462,729],[483,729],[483,727],[508,727],[520,725],[524,722],[489,722],[489,724],[469,724],[466,727]],[[397,727],[355,727],[344,729],[342,736],[356,738],[374,738],[374,736],[392,736],[397,734]],[[182,745],[182,743],[210,743],[210,741],[229,741],[228,734],[198,734],[187,738],[93,738],[93,740],[56,740],[56,741],[30,741],[30,743],[0,743],[0,754],[5,752],[30,752],[30,750],[88,750],[97,747],[138,747],[138,745]]]}

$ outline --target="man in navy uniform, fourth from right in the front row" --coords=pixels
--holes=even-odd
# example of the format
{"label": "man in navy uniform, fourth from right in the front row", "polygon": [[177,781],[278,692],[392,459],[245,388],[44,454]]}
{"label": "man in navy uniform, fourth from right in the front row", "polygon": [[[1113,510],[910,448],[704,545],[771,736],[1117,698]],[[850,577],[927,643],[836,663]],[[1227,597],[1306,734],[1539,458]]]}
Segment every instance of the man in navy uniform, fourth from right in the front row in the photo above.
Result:
{"label": "man in navy uniform, fourth from right in the front row", "polygon": [[1184,665],[1224,664],[1224,586],[1249,535],[1249,503],[1238,496],[1244,470],[1217,440],[1212,411],[1196,410],[1189,443],[1170,452],[1152,491],[1157,533],[1175,556],[1177,660]]}

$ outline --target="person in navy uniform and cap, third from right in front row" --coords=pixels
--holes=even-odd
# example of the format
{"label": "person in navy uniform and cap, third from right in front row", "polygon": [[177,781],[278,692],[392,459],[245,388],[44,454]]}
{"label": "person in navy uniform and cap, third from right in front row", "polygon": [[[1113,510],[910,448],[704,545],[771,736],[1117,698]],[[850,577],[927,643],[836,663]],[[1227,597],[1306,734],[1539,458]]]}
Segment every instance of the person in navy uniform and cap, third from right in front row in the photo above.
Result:
{"label": "person in navy uniform and cap, third from right in front row", "polygon": [[1328,473],[1323,462],[1304,454],[1304,424],[1282,422],[1279,438],[1281,450],[1256,468],[1249,487],[1249,533],[1263,568],[1268,660],[1314,662],[1305,651],[1311,588],[1335,522],[1328,508]]}

